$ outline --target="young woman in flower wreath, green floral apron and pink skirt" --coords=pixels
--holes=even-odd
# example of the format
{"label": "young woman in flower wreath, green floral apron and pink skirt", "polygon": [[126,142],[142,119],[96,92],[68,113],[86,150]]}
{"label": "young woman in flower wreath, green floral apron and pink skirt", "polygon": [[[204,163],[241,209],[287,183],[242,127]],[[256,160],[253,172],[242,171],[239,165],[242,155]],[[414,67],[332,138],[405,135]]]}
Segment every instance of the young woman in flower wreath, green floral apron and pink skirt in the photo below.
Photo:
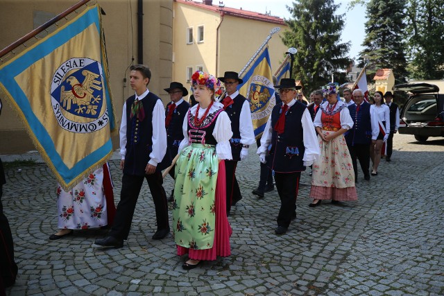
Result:
{"label": "young woman in flower wreath, green floral apron and pink skirt", "polygon": [[182,268],[203,260],[230,256],[231,227],[225,211],[225,164],[232,159],[231,122],[223,105],[214,101],[220,82],[196,71],[191,76],[194,97],[183,123],[173,201],[173,233],[178,255],[188,253]]}

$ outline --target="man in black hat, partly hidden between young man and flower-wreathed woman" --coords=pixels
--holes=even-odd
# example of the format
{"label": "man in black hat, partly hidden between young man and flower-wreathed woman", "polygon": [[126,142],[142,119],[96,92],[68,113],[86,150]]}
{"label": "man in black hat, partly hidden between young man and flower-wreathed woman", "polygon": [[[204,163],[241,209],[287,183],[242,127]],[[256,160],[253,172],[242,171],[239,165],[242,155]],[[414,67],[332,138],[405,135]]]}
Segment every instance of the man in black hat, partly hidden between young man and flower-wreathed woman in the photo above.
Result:
{"label": "man in black hat, partly hidden between young man and flower-wreathed woman", "polygon": [[[179,144],[184,138],[182,125],[189,110],[189,103],[185,102],[182,97],[188,96],[188,90],[183,87],[182,83],[175,81],[171,82],[169,88],[164,90],[171,99],[165,110],[165,128],[167,128],[167,153],[173,159],[178,154]],[[174,166],[169,171],[169,175],[174,179]],[[168,198],[169,202],[173,200],[174,189]]]}

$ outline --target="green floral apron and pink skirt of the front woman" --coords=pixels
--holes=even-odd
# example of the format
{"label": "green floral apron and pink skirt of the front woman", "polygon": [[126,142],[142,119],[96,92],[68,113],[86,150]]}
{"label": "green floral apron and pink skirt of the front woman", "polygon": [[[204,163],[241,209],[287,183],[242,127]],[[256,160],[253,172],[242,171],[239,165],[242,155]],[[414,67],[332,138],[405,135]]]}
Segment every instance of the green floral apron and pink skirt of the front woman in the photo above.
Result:
{"label": "green floral apron and pink skirt of the front woman", "polygon": [[225,163],[214,146],[191,144],[176,164],[173,233],[178,255],[215,260],[230,256],[232,229],[226,216]]}

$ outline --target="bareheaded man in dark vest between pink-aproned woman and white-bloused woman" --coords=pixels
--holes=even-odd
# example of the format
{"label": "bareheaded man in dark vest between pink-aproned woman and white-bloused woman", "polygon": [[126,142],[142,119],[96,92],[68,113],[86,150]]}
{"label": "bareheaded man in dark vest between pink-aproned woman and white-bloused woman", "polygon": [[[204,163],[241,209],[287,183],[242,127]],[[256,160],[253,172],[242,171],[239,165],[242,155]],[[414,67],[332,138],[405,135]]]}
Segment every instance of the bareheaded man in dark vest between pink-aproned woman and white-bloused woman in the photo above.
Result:
{"label": "bareheaded man in dark vest between pink-aproned woman and white-bloused woman", "polygon": [[350,157],[352,157],[355,182],[358,182],[357,160],[361,164],[364,179],[370,180],[370,143],[372,141],[372,124],[370,116],[370,104],[364,101],[362,89],[353,91],[355,104],[349,105],[348,110],[353,119],[353,127],[345,133]]}

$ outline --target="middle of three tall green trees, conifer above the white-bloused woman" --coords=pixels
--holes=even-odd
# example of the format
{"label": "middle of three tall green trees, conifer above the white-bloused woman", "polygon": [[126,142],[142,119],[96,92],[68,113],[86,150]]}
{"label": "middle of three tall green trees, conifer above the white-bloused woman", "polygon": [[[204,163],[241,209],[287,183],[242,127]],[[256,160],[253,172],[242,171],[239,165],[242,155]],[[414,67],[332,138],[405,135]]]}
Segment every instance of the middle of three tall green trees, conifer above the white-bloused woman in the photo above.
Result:
{"label": "middle of three tall green trees, conifer above the white-bloused woman", "polygon": [[[368,81],[372,81],[376,70],[381,68],[393,70],[395,83],[407,80],[404,42],[406,1],[370,0],[367,3],[366,37],[362,44],[364,51],[360,54],[370,62],[367,67]],[[362,58],[359,65],[364,66]]]}

